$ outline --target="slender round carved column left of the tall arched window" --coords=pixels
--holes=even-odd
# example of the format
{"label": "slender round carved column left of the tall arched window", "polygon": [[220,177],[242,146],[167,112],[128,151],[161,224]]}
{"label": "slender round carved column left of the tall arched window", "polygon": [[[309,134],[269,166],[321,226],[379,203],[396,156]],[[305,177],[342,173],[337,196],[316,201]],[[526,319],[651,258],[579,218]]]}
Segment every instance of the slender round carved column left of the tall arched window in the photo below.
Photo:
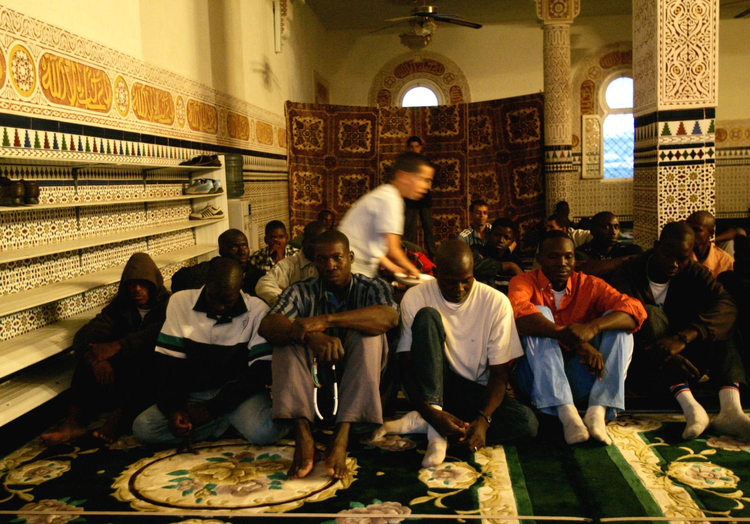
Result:
{"label": "slender round carved column left of the tall arched window", "polygon": [[544,176],[547,214],[571,197],[570,25],[579,0],[536,0],[544,22]]}

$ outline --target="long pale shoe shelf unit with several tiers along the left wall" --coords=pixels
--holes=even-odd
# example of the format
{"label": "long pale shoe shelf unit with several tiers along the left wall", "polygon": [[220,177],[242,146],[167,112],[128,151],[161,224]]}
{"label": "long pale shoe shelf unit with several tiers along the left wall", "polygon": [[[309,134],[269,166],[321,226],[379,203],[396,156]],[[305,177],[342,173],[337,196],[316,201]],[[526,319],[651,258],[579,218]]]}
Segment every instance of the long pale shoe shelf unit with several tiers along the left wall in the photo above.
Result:
{"label": "long pale shoe shelf unit with several tiers along the left wall", "polygon": [[[127,170],[133,173],[133,170],[139,170],[142,173],[142,182],[148,183],[148,178],[152,175],[179,175],[178,178],[187,179],[192,176],[199,178],[199,175],[206,175],[205,178],[218,179],[222,187],[226,187],[226,172],[223,168],[224,159],[219,157],[222,166],[219,167],[202,167],[202,166],[179,166],[177,160],[163,159],[162,162],[156,162],[154,158],[123,158],[121,162],[96,161],[80,159],[66,156],[65,152],[58,152],[55,155],[46,154],[42,158],[21,157],[14,154],[15,151],[8,151],[7,148],[0,150],[0,168],[8,166],[28,166],[32,169],[51,167],[66,168],[65,172],[71,173],[74,184],[77,183],[78,177],[86,178],[87,170],[96,169],[101,181],[102,172],[113,172],[115,175],[118,171]],[[31,177],[30,177],[31,178]],[[135,182],[138,184],[139,182]],[[66,182],[68,187],[71,185],[71,179]],[[41,187],[42,197],[45,187]],[[145,188],[144,188],[145,189]],[[95,192],[93,192],[95,193]],[[145,190],[144,192],[145,193]],[[133,194],[131,193],[128,193]],[[101,231],[92,231],[86,229],[82,221],[78,220],[79,209],[89,206],[110,206],[107,213],[111,215],[118,214],[118,206],[130,204],[128,209],[132,210],[132,204],[141,204],[145,216],[149,215],[148,206],[159,204],[160,206],[169,206],[174,202],[175,210],[184,209],[184,201],[194,202],[193,211],[197,211],[209,203],[214,207],[227,208],[226,192],[206,193],[198,195],[174,195],[174,196],[146,196],[145,194],[133,194],[132,198],[112,199],[106,196],[98,196],[89,191],[86,195],[79,194],[76,186],[76,193],[73,198],[68,198],[66,202],[42,202],[38,205],[24,206],[0,206],[0,224],[5,226],[6,237],[13,228],[17,229],[19,224],[26,224],[29,218],[29,211],[37,210],[65,210],[65,208],[76,208],[76,228],[74,229],[74,238],[65,241],[55,241],[53,235],[43,238],[38,244],[29,246],[28,243],[19,248],[0,248],[0,277],[3,277],[3,271],[18,271],[19,265],[33,264],[40,262],[35,259],[43,256],[57,256],[57,253],[64,253],[61,256],[77,256],[80,260],[80,267],[84,269],[88,263],[85,263],[85,256],[92,257],[92,250],[98,252],[101,250],[104,261],[114,259],[115,256],[104,256],[104,253],[111,253],[118,249],[127,250],[128,242],[142,241],[145,242],[146,251],[155,250],[151,255],[160,269],[175,268],[185,262],[195,263],[202,260],[211,259],[217,254],[217,237],[221,232],[229,227],[229,221],[226,214],[223,218],[212,220],[188,220],[188,214],[185,214],[183,220],[166,221],[164,223],[140,223],[133,226],[132,229],[122,231],[107,231],[104,228]],[[111,210],[111,211],[110,211]],[[174,218],[175,210],[172,210],[171,220]],[[71,213],[71,211],[66,211]],[[166,216],[166,213],[163,215]],[[124,218],[120,220],[121,224],[130,223]],[[193,233],[193,245],[184,245],[184,238],[181,243],[176,241],[172,244],[179,244],[175,248],[169,248],[168,238],[170,234],[183,235],[185,232]],[[155,237],[154,235],[160,235]],[[166,240],[165,240],[166,238]],[[155,242],[152,246],[152,242]],[[165,244],[166,242],[166,244]],[[165,245],[168,251],[165,253]],[[131,247],[132,248],[132,247]],[[95,255],[94,255],[95,256]],[[119,257],[122,259],[122,256]],[[125,258],[127,259],[127,257]],[[23,261],[23,262],[20,262]],[[96,294],[98,290],[103,290],[107,286],[116,285],[120,280],[124,263],[107,263],[102,268],[101,261],[96,265],[95,271],[86,271],[84,274],[71,274],[69,277],[63,277],[61,280],[44,283],[31,289],[23,289],[17,292],[5,293],[0,295],[0,329],[4,328],[9,322],[7,319],[15,319],[13,323],[21,322],[23,324],[23,315],[28,311],[28,318],[34,316],[32,308],[49,307],[51,304],[61,303],[61,301],[73,300],[81,297],[80,303],[86,304],[86,296]],[[168,277],[169,275],[165,275]],[[54,280],[54,279],[52,279]],[[169,278],[165,278],[165,285],[169,289]],[[109,289],[109,288],[107,288]],[[2,292],[0,288],[0,293]],[[104,296],[104,295],[102,295]],[[101,300],[100,300],[101,302]],[[73,337],[86,322],[93,319],[106,304],[98,304],[96,307],[85,309],[80,313],[74,311],[73,315],[65,319],[56,319],[46,325],[5,338],[0,336],[0,426],[7,424],[13,419],[20,417],[31,411],[31,409],[51,400],[58,394],[67,390],[77,357],[73,355],[71,344]],[[22,317],[18,317],[21,315]],[[26,322],[31,322],[26,320]],[[5,333],[7,333],[5,329]],[[0,333],[1,335],[1,333]]]}

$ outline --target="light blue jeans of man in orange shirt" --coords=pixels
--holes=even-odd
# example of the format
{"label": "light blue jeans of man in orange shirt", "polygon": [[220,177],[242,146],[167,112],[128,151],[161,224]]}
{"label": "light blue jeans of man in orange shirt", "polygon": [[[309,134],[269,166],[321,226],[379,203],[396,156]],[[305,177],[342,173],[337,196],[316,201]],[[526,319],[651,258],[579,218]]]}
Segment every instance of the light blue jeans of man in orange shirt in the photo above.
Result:
{"label": "light blue jeans of man in orange shirt", "polygon": [[[548,307],[537,308],[547,320],[554,322]],[[520,341],[525,355],[518,358],[512,372],[514,388],[542,413],[557,415],[557,406],[573,404],[574,400],[586,396],[589,406],[607,408],[607,420],[625,409],[625,373],[633,355],[631,334],[604,331],[591,340],[591,345],[604,358],[601,380],[580,363],[578,355],[571,355],[565,362],[557,340],[520,337]]]}

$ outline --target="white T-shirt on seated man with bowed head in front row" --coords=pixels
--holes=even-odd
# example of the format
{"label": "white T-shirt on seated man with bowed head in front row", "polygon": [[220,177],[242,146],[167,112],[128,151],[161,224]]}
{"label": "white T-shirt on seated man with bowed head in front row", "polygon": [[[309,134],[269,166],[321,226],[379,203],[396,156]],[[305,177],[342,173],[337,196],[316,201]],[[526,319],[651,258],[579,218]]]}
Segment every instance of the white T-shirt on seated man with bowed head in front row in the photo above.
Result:
{"label": "white T-shirt on seated man with bowed head in front row", "polygon": [[463,378],[487,385],[487,366],[505,364],[523,355],[508,297],[475,282],[460,304],[446,301],[437,280],[409,289],[401,301],[401,340],[397,352],[411,351],[414,316],[434,307],[446,330],[446,360]]}

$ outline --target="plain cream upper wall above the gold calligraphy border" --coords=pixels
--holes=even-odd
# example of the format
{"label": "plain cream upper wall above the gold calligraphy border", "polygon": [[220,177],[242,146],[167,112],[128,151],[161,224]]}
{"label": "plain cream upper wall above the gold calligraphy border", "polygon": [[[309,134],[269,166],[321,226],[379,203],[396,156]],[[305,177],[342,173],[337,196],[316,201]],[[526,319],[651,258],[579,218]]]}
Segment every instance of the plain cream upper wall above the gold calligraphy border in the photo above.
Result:
{"label": "plain cream upper wall above the gold calligraphy border", "polygon": [[313,70],[326,53],[323,25],[299,1],[281,54],[274,50],[272,0],[3,4],[277,115],[284,114],[285,100],[314,100]]}

